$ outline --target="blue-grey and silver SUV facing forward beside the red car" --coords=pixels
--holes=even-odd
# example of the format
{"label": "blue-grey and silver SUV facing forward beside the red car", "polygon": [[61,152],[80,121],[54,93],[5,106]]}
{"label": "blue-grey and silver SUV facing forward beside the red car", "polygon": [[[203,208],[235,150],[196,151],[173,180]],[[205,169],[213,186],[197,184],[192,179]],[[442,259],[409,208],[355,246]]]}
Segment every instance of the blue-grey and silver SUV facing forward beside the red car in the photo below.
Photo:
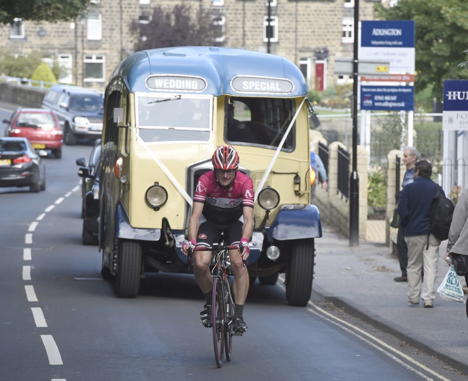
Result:
{"label": "blue-grey and silver SUV facing forward beside the red car", "polygon": [[103,98],[97,91],[79,86],[53,86],[45,94],[42,108],[54,111],[59,118],[65,144],[74,145],[79,138],[101,138]]}

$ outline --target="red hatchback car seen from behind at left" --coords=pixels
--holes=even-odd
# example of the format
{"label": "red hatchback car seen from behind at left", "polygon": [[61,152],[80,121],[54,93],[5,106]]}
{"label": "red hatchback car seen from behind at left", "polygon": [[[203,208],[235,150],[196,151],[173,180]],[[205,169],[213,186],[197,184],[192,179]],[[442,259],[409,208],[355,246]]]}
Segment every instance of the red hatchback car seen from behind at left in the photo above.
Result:
{"label": "red hatchback car seen from behind at left", "polygon": [[62,156],[62,129],[51,110],[19,107],[7,123],[5,136],[27,138],[35,149],[50,150],[56,159]]}

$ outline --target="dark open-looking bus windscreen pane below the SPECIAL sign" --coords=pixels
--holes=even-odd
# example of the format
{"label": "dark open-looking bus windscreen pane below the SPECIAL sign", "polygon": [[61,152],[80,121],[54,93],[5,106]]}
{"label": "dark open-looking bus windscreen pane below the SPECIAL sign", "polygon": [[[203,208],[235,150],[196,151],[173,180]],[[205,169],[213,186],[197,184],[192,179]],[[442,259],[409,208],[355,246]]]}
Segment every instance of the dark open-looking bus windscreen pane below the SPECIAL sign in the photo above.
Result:
{"label": "dark open-looking bus windscreen pane below the SPECIAL sign", "polygon": [[[294,99],[226,98],[224,139],[228,143],[276,149],[294,118]],[[282,150],[295,148],[296,123],[287,134]]]}

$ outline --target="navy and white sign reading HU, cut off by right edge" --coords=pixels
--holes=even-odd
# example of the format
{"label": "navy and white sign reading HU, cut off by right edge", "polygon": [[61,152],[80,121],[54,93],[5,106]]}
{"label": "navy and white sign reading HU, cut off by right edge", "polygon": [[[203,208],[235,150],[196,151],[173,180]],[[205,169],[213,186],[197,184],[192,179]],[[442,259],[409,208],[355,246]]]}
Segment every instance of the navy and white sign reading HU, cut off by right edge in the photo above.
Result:
{"label": "navy and white sign reading HU, cut off by right edge", "polygon": [[468,80],[444,80],[442,129],[468,130]]}

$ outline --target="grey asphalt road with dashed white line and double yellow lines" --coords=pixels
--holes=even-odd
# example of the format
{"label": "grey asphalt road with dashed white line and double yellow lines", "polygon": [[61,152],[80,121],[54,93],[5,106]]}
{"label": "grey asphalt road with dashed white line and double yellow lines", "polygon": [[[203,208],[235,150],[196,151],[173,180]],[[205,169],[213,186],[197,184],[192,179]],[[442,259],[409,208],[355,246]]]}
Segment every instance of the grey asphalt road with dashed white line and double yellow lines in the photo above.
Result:
{"label": "grey asphalt road with dashed white line and double yellow lines", "polygon": [[45,159],[41,193],[0,188],[0,380],[466,380],[316,294],[288,306],[281,280],[250,287],[248,330],[218,369],[193,276],[150,275],[136,299],[101,279],[81,243],[75,160],[91,148]]}

